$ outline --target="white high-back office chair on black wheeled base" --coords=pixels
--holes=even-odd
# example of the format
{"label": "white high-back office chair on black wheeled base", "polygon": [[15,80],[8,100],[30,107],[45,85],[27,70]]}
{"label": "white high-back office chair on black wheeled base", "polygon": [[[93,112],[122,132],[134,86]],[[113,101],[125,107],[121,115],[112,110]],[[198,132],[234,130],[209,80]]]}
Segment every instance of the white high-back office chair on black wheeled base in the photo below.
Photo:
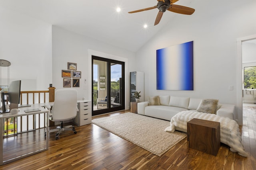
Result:
{"label": "white high-back office chair on black wheeled base", "polygon": [[56,129],[49,131],[58,131],[55,136],[56,140],[59,139],[62,131],[74,131],[76,134],[75,127],[73,125],[63,127],[63,121],[75,118],[77,111],[77,91],[75,89],[56,90],[54,104],[49,117],[51,121],[61,121],[61,127],[58,126]]}

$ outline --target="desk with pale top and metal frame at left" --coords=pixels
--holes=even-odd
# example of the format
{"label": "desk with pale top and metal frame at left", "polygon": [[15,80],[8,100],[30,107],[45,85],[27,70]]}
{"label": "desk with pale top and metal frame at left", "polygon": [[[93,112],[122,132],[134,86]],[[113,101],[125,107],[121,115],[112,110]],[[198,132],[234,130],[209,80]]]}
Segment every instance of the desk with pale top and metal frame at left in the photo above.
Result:
{"label": "desk with pale top and metal frame at left", "polygon": [[[36,115],[36,114],[40,114],[40,113],[47,113],[46,116],[49,117],[49,110],[48,109],[45,109],[44,107],[41,107],[42,104],[31,104],[30,107],[20,107],[18,108],[19,109],[19,113],[17,114],[11,114],[11,113],[1,113],[0,114],[0,165],[2,164],[6,164],[6,163],[9,163],[9,162],[12,162],[12,161],[15,161],[15,160],[18,160],[18,159],[21,159],[21,158],[24,158],[26,156],[30,156],[32,154],[36,154],[38,152],[42,152],[44,150],[48,150],[48,130],[49,130],[49,127],[48,127],[48,119],[47,119],[47,122],[46,122],[46,139],[44,137],[44,133],[42,134],[39,134],[40,136],[42,135],[42,137],[44,137],[44,141],[45,143],[43,142],[43,146],[39,146],[39,147],[34,147],[36,150],[28,150],[28,149],[25,149],[23,150],[22,152],[20,151],[20,148],[22,147],[22,145],[32,145],[31,143],[18,143],[18,149],[17,151],[15,152],[15,154],[13,154],[13,156],[6,156],[4,153],[7,152],[8,148],[12,148],[14,149],[15,147],[17,146],[9,146],[9,144],[11,145],[11,141],[9,143],[9,141],[7,141],[6,139],[4,139],[3,137],[3,132],[4,132],[4,119],[6,118],[10,118],[10,117],[21,117],[21,116],[26,116],[26,115]],[[24,110],[26,109],[40,109],[41,111],[34,111],[34,112],[30,112],[30,113],[25,113]],[[36,130],[36,120],[34,119],[34,131],[38,131]],[[18,137],[24,135],[26,133],[21,133],[21,134],[18,134],[16,136],[16,140],[18,140]],[[9,137],[8,137],[9,138]],[[15,137],[13,137],[13,140],[12,141],[15,141]],[[4,142],[8,142],[8,148],[3,148],[3,145],[4,145]],[[38,141],[35,141],[36,143],[35,144],[38,144]],[[17,143],[16,143],[17,145]],[[30,147],[30,148],[33,148],[33,147]],[[25,153],[24,153],[25,152]]]}

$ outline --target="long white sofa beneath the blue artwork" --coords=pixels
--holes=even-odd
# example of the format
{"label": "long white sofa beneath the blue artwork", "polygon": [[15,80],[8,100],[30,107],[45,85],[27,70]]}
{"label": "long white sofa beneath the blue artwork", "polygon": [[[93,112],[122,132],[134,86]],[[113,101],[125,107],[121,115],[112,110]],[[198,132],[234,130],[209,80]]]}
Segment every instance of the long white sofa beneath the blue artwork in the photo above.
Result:
{"label": "long white sofa beneath the blue artwork", "polygon": [[[175,97],[175,96],[159,96],[160,105],[150,105],[149,102],[138,103],[138,114],[147,115],[170,121],[174,115],[180,111],[198,109],[202,99]],[[232,104],[218,104],[216,115],[229,117],[234,119],[235,106]]]}

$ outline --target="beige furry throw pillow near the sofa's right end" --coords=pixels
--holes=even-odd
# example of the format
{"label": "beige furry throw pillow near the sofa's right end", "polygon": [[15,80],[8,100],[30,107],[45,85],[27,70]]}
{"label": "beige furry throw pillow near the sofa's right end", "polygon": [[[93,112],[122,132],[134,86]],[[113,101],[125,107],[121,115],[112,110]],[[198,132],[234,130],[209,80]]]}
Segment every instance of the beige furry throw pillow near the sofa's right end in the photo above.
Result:
{"label": "beige furry throw pillow near the sofa's right end", "polygon": [[217,105],[218,105],[218,100],[216,99],[203,99],[201,100],[196,110],[203,113],[215,114]]}

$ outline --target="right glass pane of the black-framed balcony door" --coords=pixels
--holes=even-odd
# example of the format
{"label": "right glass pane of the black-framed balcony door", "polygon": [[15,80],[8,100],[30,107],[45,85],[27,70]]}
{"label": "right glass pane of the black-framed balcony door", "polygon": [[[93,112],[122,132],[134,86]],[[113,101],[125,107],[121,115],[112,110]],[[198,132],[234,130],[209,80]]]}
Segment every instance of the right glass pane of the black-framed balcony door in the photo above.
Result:
{"label": "right glass pane of the black-framed balcony door", "polygon": [[122,64],[111,63],[110,66],[110,100],[111,107],[118,107],[122,105]]}

